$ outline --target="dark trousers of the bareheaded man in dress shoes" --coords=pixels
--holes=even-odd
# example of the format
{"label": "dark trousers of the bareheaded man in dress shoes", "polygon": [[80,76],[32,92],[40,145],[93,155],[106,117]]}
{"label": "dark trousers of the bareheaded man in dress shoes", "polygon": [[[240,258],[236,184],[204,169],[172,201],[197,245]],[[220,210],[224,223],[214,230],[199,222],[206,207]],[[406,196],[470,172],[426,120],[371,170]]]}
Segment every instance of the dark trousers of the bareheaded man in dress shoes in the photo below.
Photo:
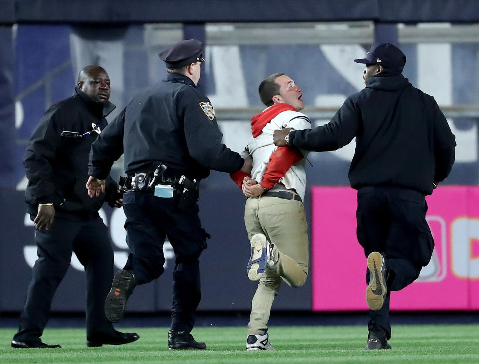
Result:
{"label": "dark trousers of the bareheaded man in dress shoes", "polygon": [[[88,221],[55,218],[50,230],[36,230],[38,259],[32,270],[16,341],[38,342],[48,322],[55,291],[70,266],[72,251],[86,271],[86,333],[110,333],[105,297],[113,279],[113,250],[100,217]],[[78,289],[71,290],[72,292]],[[76,296],[67,298],[77,300]]]}

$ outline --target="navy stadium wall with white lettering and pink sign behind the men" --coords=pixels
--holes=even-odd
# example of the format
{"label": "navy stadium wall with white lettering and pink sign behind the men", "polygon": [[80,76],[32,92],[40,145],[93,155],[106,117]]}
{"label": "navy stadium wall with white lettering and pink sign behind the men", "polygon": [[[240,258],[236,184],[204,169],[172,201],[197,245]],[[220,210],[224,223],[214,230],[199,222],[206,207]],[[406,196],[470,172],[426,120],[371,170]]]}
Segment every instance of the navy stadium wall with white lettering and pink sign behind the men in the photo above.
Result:
{"label": "navy stadium wall with white lettering and pink sign behind the men", "polygon": [[[179,8],[194,11],[180,13]],[[329,23],[332,21],[343,23]],[[427,272],[432,272],[429,277],[435,281],[420,280],[410,287],[411,292],[404,294],[409,297],[426,284],[430,287],[427,297],[443,295],[450,284],[458,289],[455,300],[430,299],[428,304],[401,299],[395,309],[477,309],[475,283],[479,277],[475,267],[479,252],[475,221],[479,211],[468,201],[477,198],[479,170],[479,38],[475,37],[478,21],[479,5],[473,0],[284,0],[279,5],[267,0],[204,0],[201,6],[198,1],[186,0],[0,0],[3,24],[0,26],[0,292],[8,292],[0,296],[0,312],[16,312],[21,308],[36,259],[36,248],[32,245],[34,228],[26,217],[23,198],[26,180],[22,156],[26,141],[44,110],[71,95],[79,47],[101,41],[102,31],[111,29],[112,24],[118,29],[118,37],[114,39],[111,54],[121,52],[122,66],[117,67],[118,57],[113,62],[102,59],[101,52],[92,57],[106,62],[105,68],[112,79],[112,98],[119,108],[137,89],[164,76],[156,56],[159,49],[182,37],[196,36],[206,41],[202,88],[217,108],[225,143],[235,150],[242,149],[247,142],[248,118],[261,110],[257,85],[267,75],[278,71],[290,75],[303,88],[306,104],[310,105],[306,113],[311,115],[314,125],[320,125],[347,95],[363,87],[362,67],[351,60],[363,57],[373,41],[399,43],[408,56],[405,76],[435,96],[458,138],[456,164],[445,183],[449,186],[441,186],[428,197],[430,215],[435,217],[430,225],[433,232],[437,231],[439,254],[433,263],[439,264],[429,267]],[[231,22],[240,24],[225,24]],[[416,25],[416,22],[444,23]],[[91,28],[98,39],[85,36],[84,30],[88,32]],[[265,40],[258,41],[256,36],[246,41],[243,37],[241,42],[238,34],[248,35],[248,28],[259,29],[259,37]],[[283,37],[278,40],[273,36],[269,41],[264,35],[269,31]],[[428,31],[432,33],[428,35]],[[414,34],[423,32],[426,40],[414,38]],[[288,33],[291,38],[287,38]],[[312,34],[310,38],[303,37],[308,33]],[[336,35],[328,38],[331,34]],[[364,35],[357,38],[355,34]],[[438,40],[434,34],[447,36]],[[467,72],[455,72],[457,69]],[[236,117],[232,110],[243,111]],[[311,229],[311,279],[300,289],[284,285],[274,304],[276,310],[366,309],[358,293],[364,290],[365,258],[354,236],[356,200],[347,180],[353,151],[354,143],[341,151],[310,154],[314,167],[308,166],[307,170],[311,189],[305,206]],[[114,174],[121,173],[120,163]],[[455,206],[454,216],[447,214],[449,206]],[[202,182],[200,216],[212,239],[201,258],[200,310],[250,308],[255,284],[245,275],[249,247],[243,207],[244,197],[226,174],[213,172]],[[102,217],[110,230],[115,266],[120,268],[127,255],[124,215],[121,209],[105,207]],[[168,243],[164,251],[167,260],[163,277],[138,287],[129,303],[131,311],[169,311],[173,255]],[[349,288],[338,293],[331,287],[332,283],[338,283],[330,277],[331,256],[342,256],[345,252],[352,255],[340,262],[344,275],[339,284]],[[84,287],[82,267],[73,257],[55,296],[53,311],[84,310]],[[444,287],[449,288],[444,291]]]}

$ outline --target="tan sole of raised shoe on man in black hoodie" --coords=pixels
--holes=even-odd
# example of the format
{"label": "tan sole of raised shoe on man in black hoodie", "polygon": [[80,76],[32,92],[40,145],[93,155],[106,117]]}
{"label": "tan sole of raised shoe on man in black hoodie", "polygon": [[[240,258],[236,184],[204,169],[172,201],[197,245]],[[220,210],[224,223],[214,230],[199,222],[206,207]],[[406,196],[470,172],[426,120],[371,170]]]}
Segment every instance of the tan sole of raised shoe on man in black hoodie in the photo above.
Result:
{"label": "tan sole of raised shoe on man in black hoodie", "polygon": [[383,256],[378,252],[372,252],[368,256],[369,275],[372,277],[371,283],[366,288],[366,303],[370,310],[377,311],[383,307],[384,296],[387,288],[381,267],[384,264]]}

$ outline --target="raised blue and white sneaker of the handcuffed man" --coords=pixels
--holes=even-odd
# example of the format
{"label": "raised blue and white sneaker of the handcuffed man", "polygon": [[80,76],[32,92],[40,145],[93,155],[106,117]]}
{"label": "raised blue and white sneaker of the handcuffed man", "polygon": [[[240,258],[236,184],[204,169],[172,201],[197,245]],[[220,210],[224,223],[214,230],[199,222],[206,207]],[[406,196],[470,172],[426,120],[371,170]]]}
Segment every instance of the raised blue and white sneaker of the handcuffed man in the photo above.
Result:
{"label": "raised blue and white sneaker of the handcuffed man", "polygon": [[267,267],[274,266],[273,249],[264,234],[256,234],[251,238],[251,257],[248,262],[248,277],[258,281]]}

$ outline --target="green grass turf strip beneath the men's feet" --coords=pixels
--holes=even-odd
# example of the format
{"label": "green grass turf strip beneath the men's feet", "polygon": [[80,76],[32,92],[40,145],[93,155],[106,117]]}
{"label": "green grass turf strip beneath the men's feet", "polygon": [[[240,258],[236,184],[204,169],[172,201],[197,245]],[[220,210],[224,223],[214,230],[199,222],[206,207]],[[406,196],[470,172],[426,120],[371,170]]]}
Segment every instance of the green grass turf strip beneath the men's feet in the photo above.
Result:
{"label": "green grass turf strip beneath the men's feet", "polygon": [[270,328],[275,351],[247,352],[243,327],[195,328],[208,350],[167,350],[167,328],[136,328],[131,344],[87,348],[84,329],[46,329],[61,349],[12,349],[14,329],[0,329],[0,363],[479,363],[479,325],[396,325],[392,350],[367,351],[362,326]]}

